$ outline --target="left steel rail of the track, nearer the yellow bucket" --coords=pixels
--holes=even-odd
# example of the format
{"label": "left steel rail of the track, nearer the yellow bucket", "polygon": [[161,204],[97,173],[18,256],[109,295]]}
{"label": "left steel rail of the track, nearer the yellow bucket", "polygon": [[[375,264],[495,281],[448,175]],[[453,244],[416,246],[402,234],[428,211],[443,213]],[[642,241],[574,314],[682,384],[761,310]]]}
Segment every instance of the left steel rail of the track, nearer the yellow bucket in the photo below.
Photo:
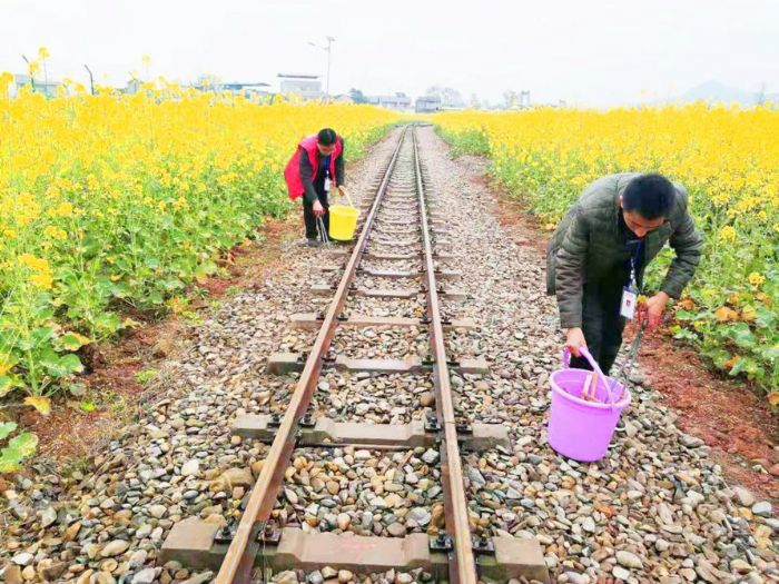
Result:
{"label": "left steel rail of the track, nearer the yellow bucket", "polygon": [[289,461],[295,447],[297,423],[304,416],[306,409],[308,409],[316,389],[323,358],[329,349],[333,336],[335,335],[335,328],[338,324],[337,316],[343,310],[346,298],[348,297],[349,287],[354,280],[357,265],[367,246],[368,234],[373,227],[384,194],[387,190],[389,177],[397,162],[406,132],[407,127],[403,129],[397,141],[384,178],[376,191],[376,197],[374,198],[371,210],[363,225],[359,239],[352,251],[344,276],[335,291],[335,297],[327,309],[314,347],[306,359],[300,378],[289,400],[289,406],[284,414],[284,418],[278,427],[278,433],[270,445],[268,455],[263,464],[263,469],[257,477],[257,483],[252,489],[246,511],[240,518],[233,542],[221,562],[219,573],[214,581],[217,584],[248,584],[250,582],[255,556],[259,551],[259,544],[257,542],[259,528],[268,521],[275,506],[284,479],[284,472],[286,469],[285,462]]}

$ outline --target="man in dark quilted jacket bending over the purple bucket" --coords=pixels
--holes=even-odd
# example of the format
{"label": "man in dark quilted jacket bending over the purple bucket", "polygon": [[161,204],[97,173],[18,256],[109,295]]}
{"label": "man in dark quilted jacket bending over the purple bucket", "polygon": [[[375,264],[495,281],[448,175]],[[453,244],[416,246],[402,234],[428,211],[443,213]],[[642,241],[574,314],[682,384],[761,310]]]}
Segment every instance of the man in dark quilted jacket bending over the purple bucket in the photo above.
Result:
{"label": "man in dark quilted jacket bending over the purple bucket", "polygon": [[546,290],[558,298],[572,367],[591,368],[580,355],[585,346],[608,374],[622,344],[625,288],[642,290],[647,265],[667,242],[676,258],[640,313],[648,329],[660,324],[669,299],[679,298],[700,260],[703,240],[687,191],[658,174],[610,175],[584,189],[546,256]]}

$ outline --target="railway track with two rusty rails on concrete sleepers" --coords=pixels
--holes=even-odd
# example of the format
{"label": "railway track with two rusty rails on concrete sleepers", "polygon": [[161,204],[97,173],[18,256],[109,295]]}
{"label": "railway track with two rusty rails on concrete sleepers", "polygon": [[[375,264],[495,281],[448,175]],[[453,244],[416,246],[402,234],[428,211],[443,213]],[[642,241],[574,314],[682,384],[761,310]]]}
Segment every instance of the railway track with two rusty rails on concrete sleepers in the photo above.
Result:
{"label": "railway track with two rusty rails on concrete sleepers", "polygon": [[[472,534],[461,451],[510,447],[509,435],[501,425],[469,424],[455,415],[451,372],[480,375],[487,372],[487,365],[483,359],[457,359],[446,353],[446,331],[466,330],[475,323],[450,318],[451,310],[442,306],[465,298],[452,285],[462,275],[446,269],[454,234],[446,232],[445,210],[436,209],[425,180],[414,126],[398,133],[375,196],[363,210],[356,242],[351,250],[323,253],[334,263],[322,266],[323,271],[341,274],[337,285],[312,287],[312,294],[332,295],[327,310],[290,315],[290,326],[317,330],[310,350],[269,358],[269,372],[299,374],[284,415],[247,415],[234,422],[235,434],[270,443],[256,484],[241,501],[240,521],[226,526],[198,518],[179,522],[162,545],[160,562],[218,567],[215,582],[219,584],[267,581],[274,572],[323,566],[357,573],[422,568],[431,578],[453,583],[548,581],[536,541]],[[418,306],[412,310],[414,316],[346,309],[347,303],[359,298]],[[426,352],[404,358],[338,354],[336,335],[366,328],[426,330]],[[333,419],[314,404],[323,372],[332,368],[363,379],[427,375],[434,409],[421,409],[403,424]],[[435,466],[440,477],[443,525],[411,522],[411,533],[404,529],[397,537],[280,525],[274,508],[288,469],[295,468],[289,466],[295,449],[302,447],[407,452],[406,462],[424,453],[425,463]],[[305,507],[305,502],[296,503]]]}

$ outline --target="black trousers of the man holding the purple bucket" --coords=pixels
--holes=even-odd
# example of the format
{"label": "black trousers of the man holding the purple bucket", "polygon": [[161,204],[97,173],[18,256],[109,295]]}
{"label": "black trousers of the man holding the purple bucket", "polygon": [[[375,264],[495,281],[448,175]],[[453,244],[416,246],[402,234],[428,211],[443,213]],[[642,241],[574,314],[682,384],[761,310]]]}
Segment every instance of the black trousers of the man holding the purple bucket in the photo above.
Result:
{"label": "black trousers of the man holding the purple bucket", "polygon": [[[622,346],[622,331],[627,323],[620,316],[622,288],[627,278],[585,284],[582,297],[582,331],[586,348],[605,375],[614,365]],[[572,357],[571,367],[592,369],[584,357]]]}

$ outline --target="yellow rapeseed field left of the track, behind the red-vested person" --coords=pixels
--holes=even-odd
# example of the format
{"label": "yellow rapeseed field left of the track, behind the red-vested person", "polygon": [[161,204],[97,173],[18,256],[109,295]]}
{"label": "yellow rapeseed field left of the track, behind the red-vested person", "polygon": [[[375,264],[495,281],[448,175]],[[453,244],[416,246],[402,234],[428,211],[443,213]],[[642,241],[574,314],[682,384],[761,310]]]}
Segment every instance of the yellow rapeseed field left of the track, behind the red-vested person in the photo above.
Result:
{"label": "yellow rapeseed field left of the track, behind the red-vested person", "polygon": [[0,75],[0,397],[67,385],[79,348],[131,324],[124,308],[181,306],[225,249],[290,208],[283,167],[302,137],[333,127],[355,158],[396,119],[164,80],[11,97],[11,80]]}

